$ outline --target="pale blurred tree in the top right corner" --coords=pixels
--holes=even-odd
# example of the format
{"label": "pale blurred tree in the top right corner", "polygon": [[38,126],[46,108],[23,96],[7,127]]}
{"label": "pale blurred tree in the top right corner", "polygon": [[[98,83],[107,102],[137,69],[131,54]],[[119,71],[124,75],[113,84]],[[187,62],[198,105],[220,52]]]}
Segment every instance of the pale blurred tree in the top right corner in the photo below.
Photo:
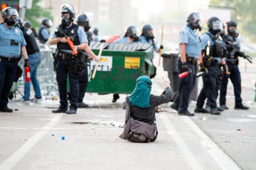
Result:
{"label": "pale blurred tree in the top right corner", "polygon": [[256,41],[256,1],[247,0],[211,0],[211,5],[232,6],[237,10],[237,16],[234,19],[237,20],[238,27],[241,32],[247,35],[250,40]]}

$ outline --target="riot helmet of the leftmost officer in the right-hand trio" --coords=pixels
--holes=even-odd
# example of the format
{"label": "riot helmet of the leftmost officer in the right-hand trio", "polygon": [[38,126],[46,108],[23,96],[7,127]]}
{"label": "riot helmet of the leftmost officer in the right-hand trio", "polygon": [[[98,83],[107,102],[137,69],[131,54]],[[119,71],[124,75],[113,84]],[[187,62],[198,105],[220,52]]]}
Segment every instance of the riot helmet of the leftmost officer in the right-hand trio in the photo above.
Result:
{"label": "riot helmet of the leftmost officer in the right-hand trio", "polygon": [[190,13],[187,18],[187,23],[190,28],[193,30],[198,29],[201,31],[203,28],[200,25],[200,22],[203,22],[202,16],[200,13]]}

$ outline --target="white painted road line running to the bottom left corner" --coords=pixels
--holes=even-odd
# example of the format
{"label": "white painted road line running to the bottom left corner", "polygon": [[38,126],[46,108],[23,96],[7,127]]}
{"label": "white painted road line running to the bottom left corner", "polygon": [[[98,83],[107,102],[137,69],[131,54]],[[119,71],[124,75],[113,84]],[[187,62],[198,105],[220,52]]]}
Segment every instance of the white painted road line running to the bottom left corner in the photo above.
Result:
{"label": "white painted road line running to the bottom left corner", "polygon": [[24,145],[22,145],[17,151],[15,151],[9,158],[7,158],[1,165],[0,169],[9,170],[13,168],[26,154],[33,148],[36,143],[52,128],[55,126],[62,114],[54,116],[51,121],[46,124],[41,131],[38,131],[33,137],[31,137]]}

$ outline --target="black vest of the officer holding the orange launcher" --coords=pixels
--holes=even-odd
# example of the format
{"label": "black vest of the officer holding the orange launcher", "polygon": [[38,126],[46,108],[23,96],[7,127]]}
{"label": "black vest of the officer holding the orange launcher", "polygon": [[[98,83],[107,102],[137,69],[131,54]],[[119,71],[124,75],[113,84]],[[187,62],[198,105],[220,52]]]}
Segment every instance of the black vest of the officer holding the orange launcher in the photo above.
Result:
{"label": "black vest of the officer holding the orange launcher", "polygon": [[[59,27],[61,27],[61,25],[59,25]],[[79,41],[79,37],[77,35],[77,30],[78,30],[78,25],[74,24],[70,27],[70,28],[64,28],[64,30],[67,31],[66,36],[71,37],[71,39],[73,39],[73,43],[74,45],[79,45],[80,41]],[[65,50],[71,50],[70,46],[68,45],[68,43],[57,43],[57,49],[65,49]]]}

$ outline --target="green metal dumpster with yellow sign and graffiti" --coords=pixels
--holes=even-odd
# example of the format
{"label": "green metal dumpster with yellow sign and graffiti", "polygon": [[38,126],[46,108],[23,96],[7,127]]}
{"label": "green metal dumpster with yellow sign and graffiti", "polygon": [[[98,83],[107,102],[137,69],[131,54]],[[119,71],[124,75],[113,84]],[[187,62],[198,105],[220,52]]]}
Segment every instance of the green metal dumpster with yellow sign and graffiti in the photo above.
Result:
{"label": "green metal dumpster with yellow sign and graffiti", "polygon": [[[90,47],[98,55],[101,43],[91,43]],[[90,76],[86,92],[98,94],[131,94],[136,79],[141,75],[154,74],[150,60],[153,47],[141,43],[104,43],[95,78],[91,75],[96,64],[90,63]]]}

